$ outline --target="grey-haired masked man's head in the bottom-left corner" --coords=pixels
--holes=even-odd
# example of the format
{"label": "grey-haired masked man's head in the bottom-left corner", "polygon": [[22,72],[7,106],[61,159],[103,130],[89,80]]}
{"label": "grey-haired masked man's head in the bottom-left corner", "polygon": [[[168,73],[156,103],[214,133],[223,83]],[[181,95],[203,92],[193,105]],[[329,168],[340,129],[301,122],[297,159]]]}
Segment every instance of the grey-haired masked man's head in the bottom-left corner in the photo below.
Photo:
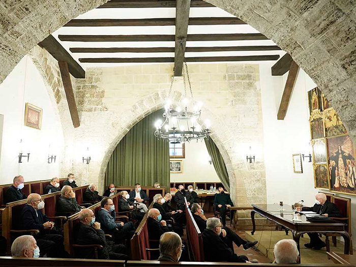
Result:
{"label": "grey-haired masked man's head in the bottom-left corner", "polygon": [[21,235],[12,243],[11,255],[13,257],[38,258],[40,248],[32,235]]}

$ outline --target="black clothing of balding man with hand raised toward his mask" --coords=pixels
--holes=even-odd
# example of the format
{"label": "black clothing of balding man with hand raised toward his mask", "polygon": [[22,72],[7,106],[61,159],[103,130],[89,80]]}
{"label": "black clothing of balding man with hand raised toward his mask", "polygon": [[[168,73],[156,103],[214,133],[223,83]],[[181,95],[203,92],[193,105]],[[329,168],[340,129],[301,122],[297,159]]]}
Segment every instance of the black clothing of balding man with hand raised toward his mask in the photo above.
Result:
{"label": "black clothing of balding man with hand raised toward his mask", "polygon": [[[128,259],[126,248],[124,245],[114,245],[111,241],[106,241],[105,233],[102,229],[95,229],[93,226],[79,222],[74,229],[75,242],[78,245],[101,245],[102,250],[99,250],[99,259]],[[77,249],[77,258],[94,258],[94,248]]]}

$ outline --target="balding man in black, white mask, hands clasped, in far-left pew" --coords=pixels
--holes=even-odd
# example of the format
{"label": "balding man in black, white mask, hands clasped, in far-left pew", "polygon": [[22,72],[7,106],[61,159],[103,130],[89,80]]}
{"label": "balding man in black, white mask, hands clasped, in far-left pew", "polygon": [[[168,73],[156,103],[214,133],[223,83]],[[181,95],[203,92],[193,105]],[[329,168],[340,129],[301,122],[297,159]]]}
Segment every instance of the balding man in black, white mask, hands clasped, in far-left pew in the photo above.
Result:
{"label": "balding man in black, white mask, hands clasped, in far-left pew", "polygon": [[64,239],[63,235],[58,234],[54,223],[48,221],[48,217],[42,213],[44,202],[39,194],[29,194],[27,204],[22,209],[21,218],[23,229],[37,229],[40,231],[34,237],[37,245],[41,249],[42,255],[58,258],[64,256]]}

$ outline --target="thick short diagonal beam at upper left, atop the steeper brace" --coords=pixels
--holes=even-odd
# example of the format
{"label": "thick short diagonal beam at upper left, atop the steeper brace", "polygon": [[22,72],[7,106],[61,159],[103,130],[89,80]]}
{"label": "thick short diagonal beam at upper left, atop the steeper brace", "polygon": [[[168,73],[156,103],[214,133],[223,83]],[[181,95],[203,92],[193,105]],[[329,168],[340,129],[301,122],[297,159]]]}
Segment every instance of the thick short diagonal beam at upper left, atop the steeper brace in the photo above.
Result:
{"label": "thick short diagonal beam at upper left, atop the steeper brace", "polygon": [[85,71],[83,68],[52,35],[49,35],[42,42],[38,43],[38,45],[46,49],[58,62],[67,62],[69,72],[73,77],[85,78]]}

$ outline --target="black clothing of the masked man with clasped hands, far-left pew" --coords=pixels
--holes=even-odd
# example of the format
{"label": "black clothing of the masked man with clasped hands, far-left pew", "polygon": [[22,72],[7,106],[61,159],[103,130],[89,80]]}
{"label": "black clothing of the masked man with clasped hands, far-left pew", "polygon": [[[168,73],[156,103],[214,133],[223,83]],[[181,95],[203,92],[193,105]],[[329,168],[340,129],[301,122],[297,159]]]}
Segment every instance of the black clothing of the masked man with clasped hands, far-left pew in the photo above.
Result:
{"label": "black clothing of the masked man with clasped hands, far-left pew", "polygon": [[41,255],[47,254],[48,257],[58,258],[64,255],[63,235],[58,234],[53,228],[45,229],[43,224],[48,222],[48,217],[41,210],[35,210],[33,206],[25,204],[21,212],[23,229],[37,229],[39,234],[34,238],[40,248]]}

